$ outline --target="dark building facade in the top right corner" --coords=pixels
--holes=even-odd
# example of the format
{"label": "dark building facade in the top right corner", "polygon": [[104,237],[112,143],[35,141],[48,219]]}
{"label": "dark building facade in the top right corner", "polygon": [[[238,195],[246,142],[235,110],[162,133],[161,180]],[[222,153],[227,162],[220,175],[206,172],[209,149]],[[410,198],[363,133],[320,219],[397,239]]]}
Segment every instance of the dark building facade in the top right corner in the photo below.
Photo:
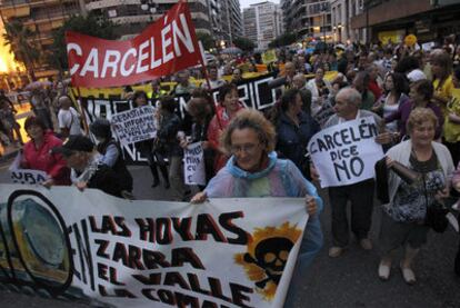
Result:
{"label": "dark building facade in the top right corner", "polygon": [[418,41],[442,42],[460,33],[460,0],[363,0],[361,13],[351,18],[351,29],[368,29],[369,41],[401,41],[416,34]]}

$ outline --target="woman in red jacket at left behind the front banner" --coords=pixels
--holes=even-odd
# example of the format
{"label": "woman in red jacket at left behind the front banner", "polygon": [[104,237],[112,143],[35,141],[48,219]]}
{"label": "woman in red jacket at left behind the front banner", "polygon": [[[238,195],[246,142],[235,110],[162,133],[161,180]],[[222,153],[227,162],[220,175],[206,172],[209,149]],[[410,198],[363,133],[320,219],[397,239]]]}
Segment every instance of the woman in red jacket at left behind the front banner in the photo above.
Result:
{"label": "woman in red jacket at left behind the front banner", "polygon": [[40,118],[30,116],[26,119],[24,128],[30,141],[24,145],[21,168],[47,172],[50,178],[42,185],[70,185],[70,169],[59,153],[51,153],[54,147],[62,146],[62,140],[47,130]]}

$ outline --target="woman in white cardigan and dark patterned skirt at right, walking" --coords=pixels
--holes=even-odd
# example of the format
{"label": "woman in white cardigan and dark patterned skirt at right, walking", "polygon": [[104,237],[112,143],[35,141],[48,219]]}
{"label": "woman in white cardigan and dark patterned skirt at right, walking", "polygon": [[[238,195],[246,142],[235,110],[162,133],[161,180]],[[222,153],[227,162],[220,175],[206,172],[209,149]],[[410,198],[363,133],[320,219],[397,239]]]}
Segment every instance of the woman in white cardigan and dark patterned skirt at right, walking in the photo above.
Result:
{"label": "woman in white cardigan and dark patterned skirt at right, walking", "polygon": [[393,172],[389,175],[390,201],[383,205],[380,230],[384,255],[379,265],[379,277],[383,280],[390,277],[396,250],[403,246],[406,254],[400,262],[402,278],[410,285],[417,281],[411,266],[421,246],[427,242],[427,210],[449,195],[453,163],[449,150],[433,141],[437,125],[438,118],[430,109],[413,110],[407,123],[410,140],[392,147],[387,153],[389,167],[397,161],[420,173],[421,180],[410,185]]}

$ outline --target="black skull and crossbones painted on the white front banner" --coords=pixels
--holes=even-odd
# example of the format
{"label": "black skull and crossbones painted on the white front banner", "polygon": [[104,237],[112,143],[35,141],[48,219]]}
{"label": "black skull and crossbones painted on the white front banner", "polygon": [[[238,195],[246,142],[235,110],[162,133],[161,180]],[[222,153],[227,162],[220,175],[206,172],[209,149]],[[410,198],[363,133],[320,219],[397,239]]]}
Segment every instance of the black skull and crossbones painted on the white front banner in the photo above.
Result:
{"label": "black skull and crossbones painted on the white front banner", "polygon": [[293,242],[290,239],[274,237],[264,239],[256,246],[256,258],[248,252],[244,254],[246,262],[254,264],[266,271],[267,278],[257,281],[257,287],[263,289],[268,281],[273,281],[278,286],[292,247]]}

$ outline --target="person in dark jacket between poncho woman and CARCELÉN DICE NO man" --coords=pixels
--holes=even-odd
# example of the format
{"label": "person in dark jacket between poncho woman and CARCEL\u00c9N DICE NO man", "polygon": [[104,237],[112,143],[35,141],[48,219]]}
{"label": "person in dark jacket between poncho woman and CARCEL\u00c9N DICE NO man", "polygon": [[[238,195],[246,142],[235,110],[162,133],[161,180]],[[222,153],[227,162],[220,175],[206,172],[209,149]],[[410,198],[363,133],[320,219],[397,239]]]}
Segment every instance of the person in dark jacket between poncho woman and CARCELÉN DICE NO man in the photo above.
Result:
{"label": "person in dark jacket between poncho woman and CARCEL\u00c9N DICE NO man", "polygon": [[272,122],[277,129],[277,152],[290,159],[303,173],[310,176],[307,145],[320,130],[313,118],[302,111],[302,98],[297,89],[287,90],[276,107]]}

